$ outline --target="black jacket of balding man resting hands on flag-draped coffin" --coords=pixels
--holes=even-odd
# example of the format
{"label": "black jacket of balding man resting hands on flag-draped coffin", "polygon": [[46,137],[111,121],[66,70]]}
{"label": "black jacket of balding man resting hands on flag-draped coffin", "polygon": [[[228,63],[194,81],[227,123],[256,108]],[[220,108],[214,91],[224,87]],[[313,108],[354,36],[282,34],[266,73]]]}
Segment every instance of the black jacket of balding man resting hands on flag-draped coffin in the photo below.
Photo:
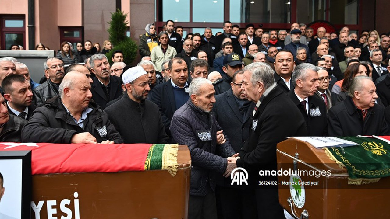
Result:
{"label": "black jacket of balding man resting hands on flag-draped coffin", "polygon": [[[108,120],[107,113],[92,101],[88,107],[93,110],[88,113],[84,127],[81,128],[67,113],[60,97],[51,99],[35,109],[30,121],[23,127],[22,141],[69,144],[74,134],[89,132],[98,143],[106,140],[123,143],[123,138]],[[105,129],[106,133],[99,134],[98,129]]]}

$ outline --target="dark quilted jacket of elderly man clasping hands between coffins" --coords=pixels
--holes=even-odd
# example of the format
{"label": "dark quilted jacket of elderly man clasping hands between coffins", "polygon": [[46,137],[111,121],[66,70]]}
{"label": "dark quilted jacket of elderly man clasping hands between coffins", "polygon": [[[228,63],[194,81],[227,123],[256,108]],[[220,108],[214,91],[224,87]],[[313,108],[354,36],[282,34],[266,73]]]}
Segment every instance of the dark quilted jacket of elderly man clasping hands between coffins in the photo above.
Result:
{"label": "dark quilted jacket of elderly man clasping hands between coffins", "polygon": [[[227,159],[234,155],[229,139],[216,144],[216,132],[222,130],[215,120],[214,113],[205,113],[189,99],[172,118],[170,131],[172,141],[188,145],[191,154],[190,194],[205,196],[207,185],[215,189],[215,173],[222,175],[227,167]],[[218,154],[218,155],[217,155]]]}

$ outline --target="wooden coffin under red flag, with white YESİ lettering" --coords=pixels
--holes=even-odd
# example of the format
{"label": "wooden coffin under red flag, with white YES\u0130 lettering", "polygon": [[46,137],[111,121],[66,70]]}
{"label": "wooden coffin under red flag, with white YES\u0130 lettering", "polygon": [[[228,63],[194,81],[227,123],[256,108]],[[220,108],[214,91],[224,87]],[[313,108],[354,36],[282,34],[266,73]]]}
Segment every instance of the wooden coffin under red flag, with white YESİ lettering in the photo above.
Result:
{"label": "wooden coffin under red flag, with white YES\u0130 lettering", "polygon": [[32,151],[32,219],[187,218],[185,145],[0,143]]}

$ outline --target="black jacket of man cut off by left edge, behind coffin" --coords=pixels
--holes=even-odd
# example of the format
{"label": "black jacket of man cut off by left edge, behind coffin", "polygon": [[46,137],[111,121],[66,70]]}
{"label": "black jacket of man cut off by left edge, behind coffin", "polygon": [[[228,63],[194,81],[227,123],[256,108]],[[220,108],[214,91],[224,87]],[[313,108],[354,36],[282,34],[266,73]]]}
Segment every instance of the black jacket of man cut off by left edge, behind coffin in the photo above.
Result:
{"label": "black jacket of man cut off by left edge, behind coffin", "polygon": [[20,135],[26,123],[27,120],[9,114],[9,120],[0,132],[0,142],[22,142]]}

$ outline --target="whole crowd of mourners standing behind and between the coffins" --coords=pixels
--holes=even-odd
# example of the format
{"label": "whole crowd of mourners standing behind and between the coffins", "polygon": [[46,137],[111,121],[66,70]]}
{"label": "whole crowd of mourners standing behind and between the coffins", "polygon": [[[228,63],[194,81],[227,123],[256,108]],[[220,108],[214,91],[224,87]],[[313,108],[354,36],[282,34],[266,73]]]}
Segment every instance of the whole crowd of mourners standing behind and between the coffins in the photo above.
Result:
{"label": "whole crowd of mourners standing behind and between the coffins", "polygon": [[289,217],[277,185],[224,178],[236,167],[276,169],[276,145],[290,136],[390,134],[389,34],[298,23],[241,32],[229,21],[216,35],[183,37],[172,20],[163,29],[146,25],[134,67],[121,51],[110,66],[109,41],[103,50],[62,42],[40,84],[25,64],[0,58],[0,141],[188,145],[190,219],[276,219]]}

